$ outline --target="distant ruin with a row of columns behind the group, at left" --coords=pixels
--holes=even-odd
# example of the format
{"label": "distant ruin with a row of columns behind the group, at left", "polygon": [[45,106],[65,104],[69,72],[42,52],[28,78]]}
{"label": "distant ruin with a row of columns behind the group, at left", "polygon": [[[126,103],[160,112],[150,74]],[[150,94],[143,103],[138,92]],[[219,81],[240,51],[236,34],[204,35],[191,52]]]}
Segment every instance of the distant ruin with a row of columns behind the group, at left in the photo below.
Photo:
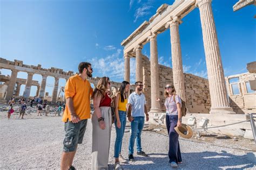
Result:
{"label": "distant ruin with a row of columns behind the group, at left", "polygon": [[[57,97],[58,89],[63,88],[59,87],[59,79],[65,79],[66,81],[69,79],[70,76],[74,75],[73,72],[63,72],[63,69],[59,68],[49,68],[45,69],[42,68],[41,65],[38,66],[29,66],[24,65],[23,61],[15,60],[15,61],[9,61],[3,58],[0,58],[0,68],[4,69],[10,69],[11,70],[11,76],[4,76],[0,75],[0,98],[2,101],[8,102],[11,97],[19,97],[19,92],[21,88],[21,84],[25,84],[25,90],[23,93],[23,97],[29,98],[31,86],[37,86],[37,93],[36,97],[41,98],[42,100],[47,99],[51,101],[51,103],[56,103],[57,101],[62,101],[61,98]],[[26,72],[28,73],[27,79],[20,79],[17,78],[18,72]],[[33,81],[33,75],[34,74],[40,74],[42,75],[42,82],[38,83],[38,81]],[[47,93],[45,93],[45,87],[46,87],[46,78],[48,76],[55,77],[55,83],[52,91],[52,96],[49,98]],[[89,78],[89,81],[91,84],[93,84],[94,87],[97,86],[97,83],[99,81],[100,77],[92,77]],[[118,82],[111,82],[111,87],[113,93],[116,93],[118,88],[120,87],[120,83]],[[131,91],[134,90],[134,86],[131,86]]]}

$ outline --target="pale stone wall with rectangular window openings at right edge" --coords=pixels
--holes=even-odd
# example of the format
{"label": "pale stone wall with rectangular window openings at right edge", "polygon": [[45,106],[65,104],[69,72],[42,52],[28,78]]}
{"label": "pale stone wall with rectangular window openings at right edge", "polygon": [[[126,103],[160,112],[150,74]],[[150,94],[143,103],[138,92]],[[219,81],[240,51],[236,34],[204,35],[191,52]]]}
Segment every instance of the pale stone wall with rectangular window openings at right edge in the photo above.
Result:
{"label": "pale stone wall with rectangular window openings at right edge", "polygon": [[230,105],[237,114],[256,112],[256,93],[248,89],[256,73],[243,73],[225,77]]}

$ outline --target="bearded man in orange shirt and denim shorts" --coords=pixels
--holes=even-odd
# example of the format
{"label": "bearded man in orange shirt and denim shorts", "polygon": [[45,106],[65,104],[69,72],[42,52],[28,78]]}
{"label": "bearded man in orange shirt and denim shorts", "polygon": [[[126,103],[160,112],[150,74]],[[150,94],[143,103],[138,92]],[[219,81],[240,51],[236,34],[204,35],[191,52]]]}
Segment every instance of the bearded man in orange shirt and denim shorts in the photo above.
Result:
{"label": "bearded man in orange shirt and denim shorts", "polygon": [[[66,82],[66,109],[62,121],[65,122],[65,138],[60,161],[60,169],[76,169],[72,166],[77,145],[82,144],[87,119],[91,118],[90,95],[92,88],[86,77],[92,77],[89,62],[80,62],[79,74],[73,75]],[[90,137],[86,137],[88,139]]]}

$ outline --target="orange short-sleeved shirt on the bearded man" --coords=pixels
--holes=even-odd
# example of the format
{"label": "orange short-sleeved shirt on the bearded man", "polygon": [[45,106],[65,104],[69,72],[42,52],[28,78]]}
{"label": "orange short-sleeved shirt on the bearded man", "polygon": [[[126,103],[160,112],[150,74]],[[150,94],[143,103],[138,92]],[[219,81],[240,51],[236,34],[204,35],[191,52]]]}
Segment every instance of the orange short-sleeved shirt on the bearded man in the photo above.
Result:
{"label": "orange short-sleeved shirt on the bearded man", "polygon": [[[71,76],[66,82],[65,98],[72,97],[75,112],[80,120],[91,118],[90,96],[92,95],[91,84],[78,75]],[[66,105],[62,121],[67,122],[71,119],[68,105]]]}

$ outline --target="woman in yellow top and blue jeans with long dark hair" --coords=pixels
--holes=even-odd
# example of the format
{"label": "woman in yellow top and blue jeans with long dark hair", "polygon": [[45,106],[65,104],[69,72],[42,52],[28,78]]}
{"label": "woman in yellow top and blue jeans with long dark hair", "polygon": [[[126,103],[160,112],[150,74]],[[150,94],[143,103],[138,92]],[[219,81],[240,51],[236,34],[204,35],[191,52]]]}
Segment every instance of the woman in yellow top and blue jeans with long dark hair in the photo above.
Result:
{"label": "woman in yellow top and blue jeans with long dark hair", "polygon": [[122,141],[124,137],[124,130],[126,125],[126,104],[128,101],[128,93],[130,89],[130,83],[123,81],[116,97],[114,98],[114,109],[116,113],[116,121],[114,125],[116,126],[116,142],[114,143],[114,168],[122,168],[119,164],[120,162],[126,162],[121,154]]}

